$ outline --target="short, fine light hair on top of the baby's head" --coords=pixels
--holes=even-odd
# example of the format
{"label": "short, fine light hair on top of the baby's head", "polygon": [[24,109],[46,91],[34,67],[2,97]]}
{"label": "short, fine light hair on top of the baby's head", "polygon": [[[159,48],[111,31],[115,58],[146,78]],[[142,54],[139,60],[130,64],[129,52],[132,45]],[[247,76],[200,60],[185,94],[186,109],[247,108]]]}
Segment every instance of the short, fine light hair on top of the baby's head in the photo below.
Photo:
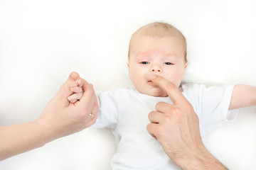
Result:
{"label": "short, fine light hair on top of the baby's head", "polygon": [[183,45],[185,63],[187,62],[186,38],[181,33],[181,31],[178,30],[177,28],[175,28],[174,26],[171,26],[171,24],[169,24],[169,23],[162,23],[162,22],[149,23],[146,26],[139,28],[139,30],[137,30],[132,35],[132,38],[129,42],[128,60],[130,59],[130,48],[131,48],[132,40],[134,39],[134,37],[137,34],[142,34],[142,35],[146,35],[146,36],[150,36],[150,37],[154,37],[154,38],[164,38],[164,37],[169,37],[169,36],[178,38],[178,40],[181,40],[181,43]]}

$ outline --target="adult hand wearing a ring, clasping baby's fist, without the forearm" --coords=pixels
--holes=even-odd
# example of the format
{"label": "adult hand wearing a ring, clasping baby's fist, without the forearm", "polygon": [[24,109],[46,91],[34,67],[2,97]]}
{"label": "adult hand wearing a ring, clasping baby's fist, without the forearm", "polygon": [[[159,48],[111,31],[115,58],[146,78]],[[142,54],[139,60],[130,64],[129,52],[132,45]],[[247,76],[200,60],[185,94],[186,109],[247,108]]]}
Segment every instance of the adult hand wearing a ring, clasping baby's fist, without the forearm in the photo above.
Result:
{"label": "adult hand wearing a ring, clasping baby's fist, without the forearm", "polygon": [[[82,84],[84,91],[82,98],[75,103],[70,103],[68,96],[73,94],[70,88],[78,84]],[[78,73],[73,72],[60,87],[58,94],[47,104],[38,123],[51,132],[49,135],[52,135],[54,140],[89,127],[95,123],[97,113],[97,97],[92,85],[81,79]]]}

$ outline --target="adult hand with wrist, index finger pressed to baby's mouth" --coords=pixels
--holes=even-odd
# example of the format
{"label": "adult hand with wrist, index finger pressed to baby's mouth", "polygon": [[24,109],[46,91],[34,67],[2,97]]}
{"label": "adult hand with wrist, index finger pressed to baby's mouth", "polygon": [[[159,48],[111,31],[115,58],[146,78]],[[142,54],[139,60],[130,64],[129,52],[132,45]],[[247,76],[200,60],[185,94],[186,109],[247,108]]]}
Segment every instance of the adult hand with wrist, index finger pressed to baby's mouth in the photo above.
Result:
{"label": "adult hand with wrist, index finger pressed to baby's mouth", "polygon": [[174,103],[157,103],[156,111],[149,113],[151,123],[147,126],[170,159],[182,169],[226,169],[203,146],[198,116],[181,91],[163,77],[151,81],[164,89]]}

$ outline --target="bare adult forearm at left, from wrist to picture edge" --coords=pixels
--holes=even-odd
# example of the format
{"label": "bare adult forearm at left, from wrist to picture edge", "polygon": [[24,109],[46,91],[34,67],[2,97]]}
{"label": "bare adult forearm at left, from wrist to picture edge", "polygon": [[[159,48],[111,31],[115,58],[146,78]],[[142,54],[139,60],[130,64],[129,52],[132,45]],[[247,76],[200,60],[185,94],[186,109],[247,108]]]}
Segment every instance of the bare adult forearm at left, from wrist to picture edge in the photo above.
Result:
{"label": "bare adult forearm at left, from wrist to picture edge", "polygon": [[9,158],[37,147],[42,147],[51,139],[35,121],[0,128],[0,160]]}

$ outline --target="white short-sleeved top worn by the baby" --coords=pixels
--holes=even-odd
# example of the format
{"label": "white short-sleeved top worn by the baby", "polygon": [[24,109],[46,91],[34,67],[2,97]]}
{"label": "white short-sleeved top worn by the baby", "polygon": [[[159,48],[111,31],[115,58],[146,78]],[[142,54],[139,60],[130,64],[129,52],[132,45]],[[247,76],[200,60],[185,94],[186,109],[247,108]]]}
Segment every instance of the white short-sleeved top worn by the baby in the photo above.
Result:
{"label": "white short-sleeved top worn by the baby", "polygon": [[[228,111],[233,86],[206,88],[184,84],[180,90],[198,115],[201,135],[238,115],[238,110]],[[172,104],[169,97],[154,97],[122,88],[110,89],[97,97],[100,111],[92,127],[112,129],[117,144],[112,169],[179,169],[146,130],[149,112],[155,111],[159,101]]]}

